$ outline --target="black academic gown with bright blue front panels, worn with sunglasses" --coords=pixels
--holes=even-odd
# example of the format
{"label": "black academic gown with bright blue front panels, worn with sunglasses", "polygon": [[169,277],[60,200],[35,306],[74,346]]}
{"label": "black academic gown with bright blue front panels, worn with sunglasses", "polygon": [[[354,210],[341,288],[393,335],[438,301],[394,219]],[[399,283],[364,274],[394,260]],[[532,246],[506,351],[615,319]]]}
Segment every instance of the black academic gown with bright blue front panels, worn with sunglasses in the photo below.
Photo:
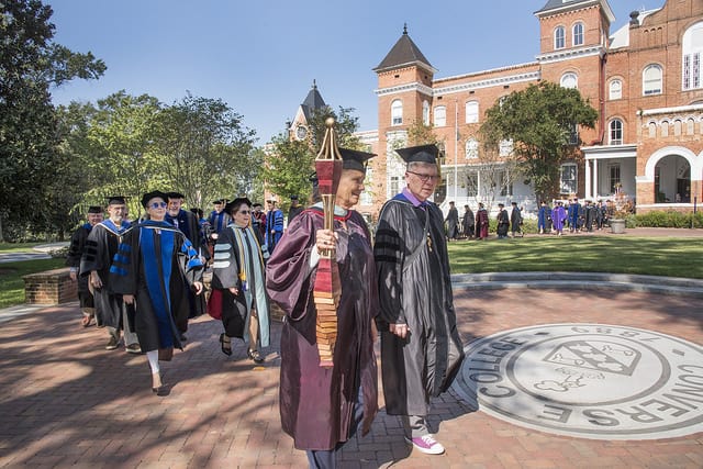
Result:
{"label": "black academic gown with bright blue front panels, worn with sunglasses", "polygon": [[146,221],[130,230],[110,268],[115,293],[133,294],[135,332],[142,350],[182,348],[176,323],[188,319],[188,292],[202,281],[198,252],[167,222]]}

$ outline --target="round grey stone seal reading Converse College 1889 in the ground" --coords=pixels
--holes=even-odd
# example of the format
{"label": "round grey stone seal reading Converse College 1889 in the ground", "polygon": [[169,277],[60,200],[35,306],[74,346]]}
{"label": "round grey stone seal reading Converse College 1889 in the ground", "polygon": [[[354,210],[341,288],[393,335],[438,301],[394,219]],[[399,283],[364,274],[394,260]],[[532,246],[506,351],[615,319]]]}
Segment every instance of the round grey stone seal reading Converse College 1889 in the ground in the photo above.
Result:
{"label": "round grey stone seal reading Converse College 1889 in the ground", "polygon": [[453,389],[547,433],[655,439],[703,432],[703,347],[654,331],[545,324],[469,344]]}

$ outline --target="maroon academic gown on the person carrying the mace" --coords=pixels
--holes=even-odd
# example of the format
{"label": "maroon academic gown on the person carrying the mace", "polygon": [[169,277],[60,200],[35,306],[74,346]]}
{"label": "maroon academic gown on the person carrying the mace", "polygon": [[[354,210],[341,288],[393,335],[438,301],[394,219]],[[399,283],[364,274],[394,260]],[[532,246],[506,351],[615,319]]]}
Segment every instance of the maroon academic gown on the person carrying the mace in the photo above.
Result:
{"label": "maroon academic gown on the person carrying the mace", "polygon": [[339,219],[336,259],[342,279],[337,310],[334,366],[320,367],[315,344],[313,287],[316,267],[310,267],[315,232],[323,227],[322,211],[309,209],[295,216],[266,266],[269,297],[286,313],[281,333],[280,414],[283,431],[299,449],[328,450],[346,442],[356,428],[354,406],[362,390],[361,432],[378,412],[373,353],[373,316],[378,312],[376,271],[370,234],[364,217]]}

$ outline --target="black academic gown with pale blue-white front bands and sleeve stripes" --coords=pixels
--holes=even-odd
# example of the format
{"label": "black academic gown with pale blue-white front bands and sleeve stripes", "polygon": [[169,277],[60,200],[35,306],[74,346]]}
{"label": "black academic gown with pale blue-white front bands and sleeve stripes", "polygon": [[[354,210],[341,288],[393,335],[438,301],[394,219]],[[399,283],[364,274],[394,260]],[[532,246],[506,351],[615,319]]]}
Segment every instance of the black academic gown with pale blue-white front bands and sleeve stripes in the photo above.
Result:
{"label": "black academic gown with pale blue-white front bands and sleeve stripes", "polygon": [[[244,258],[246,264],[244,269],[242,268],[242,247],[249,249]],[[231,223],[220,232],[212,264],[212,288],[222,290],[222,324],[225,334],[228,337],[239,337],[248,342],[249,319],[254,302],[259,319],[258,338],[261,347],[269,345],[270,328],[264,280],[264,260],[268,257],[268,250],[265,249],[266,245],[261,247],[261,239],[252,226],[242,228]],[[241,273],[245,275],[244,279],[239,278]],[[232,294],[230,288],[236,288],[237,294]]]}

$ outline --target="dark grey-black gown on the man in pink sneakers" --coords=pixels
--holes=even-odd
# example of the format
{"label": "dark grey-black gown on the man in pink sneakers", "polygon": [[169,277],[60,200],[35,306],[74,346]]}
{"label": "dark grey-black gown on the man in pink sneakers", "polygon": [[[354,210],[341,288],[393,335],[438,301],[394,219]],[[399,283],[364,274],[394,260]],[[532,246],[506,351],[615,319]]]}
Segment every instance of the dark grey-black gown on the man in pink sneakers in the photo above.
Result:
{"label": "dark grey-black gown on the man in pink sneakers", "polygon": [[[448,389],[464,359],[442,211],[425,203],[423,210],[397,196],[381,209],[376,232],[377,323],[389,415],[427,415],[429,398]],[[410,336],[391,334],[392,323],[408,324]]]}

